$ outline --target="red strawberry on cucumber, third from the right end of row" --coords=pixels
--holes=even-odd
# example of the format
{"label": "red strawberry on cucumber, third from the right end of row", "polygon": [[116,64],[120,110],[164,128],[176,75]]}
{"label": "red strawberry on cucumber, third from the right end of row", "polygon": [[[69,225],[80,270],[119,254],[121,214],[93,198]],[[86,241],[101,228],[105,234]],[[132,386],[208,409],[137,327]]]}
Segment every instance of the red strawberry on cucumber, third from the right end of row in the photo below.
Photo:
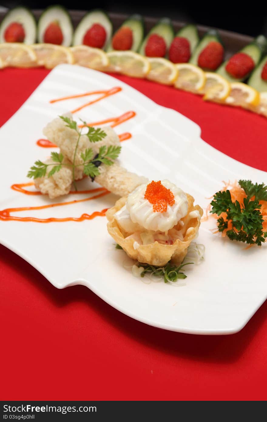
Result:
{"label": "red strawberry on cucumber, third from the right end of row", "polygon": [[224,58],[224,47],[217,41],[210,41],[198,56],[197,64],[200,68],[216,70]]}

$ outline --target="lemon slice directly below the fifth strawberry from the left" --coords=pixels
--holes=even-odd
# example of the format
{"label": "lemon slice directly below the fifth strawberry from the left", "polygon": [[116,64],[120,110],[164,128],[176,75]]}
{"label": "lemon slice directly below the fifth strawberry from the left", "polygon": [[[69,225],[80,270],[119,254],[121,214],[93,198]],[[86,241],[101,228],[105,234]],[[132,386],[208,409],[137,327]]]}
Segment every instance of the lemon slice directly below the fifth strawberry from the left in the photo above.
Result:
{"label": "lemon slice directly below the fifth strawberry from the left", "polygon": [[146,78],[159,84],[173,85],[178,76],[178,69],[169,60],[162,57],[148,57],[150,70]]}

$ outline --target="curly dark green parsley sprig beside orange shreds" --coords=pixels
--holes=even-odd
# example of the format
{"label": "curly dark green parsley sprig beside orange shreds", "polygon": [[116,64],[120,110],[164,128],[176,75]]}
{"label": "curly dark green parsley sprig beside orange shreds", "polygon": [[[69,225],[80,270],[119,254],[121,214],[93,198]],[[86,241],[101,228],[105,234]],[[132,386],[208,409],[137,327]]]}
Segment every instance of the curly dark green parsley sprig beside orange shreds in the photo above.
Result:
{"label": "curly dark green parsley sprig beside orange shreds", "polygon": [[[264,183],[253,184],[251,180],[239,180],[238,183],[247,195],[243,204],[238,201],[233,202],[227,189],[213,196],[210,212],[218,216],[226,213],[226,217],[219,217],[217,222],[219,232],[226,230],[229,239],[261,246],[267,238],[267,232],[263,231],[264,220],[259,201],[267,201],[267,186]],[[228,229],[229,223],[232,224],[230,229]]]}

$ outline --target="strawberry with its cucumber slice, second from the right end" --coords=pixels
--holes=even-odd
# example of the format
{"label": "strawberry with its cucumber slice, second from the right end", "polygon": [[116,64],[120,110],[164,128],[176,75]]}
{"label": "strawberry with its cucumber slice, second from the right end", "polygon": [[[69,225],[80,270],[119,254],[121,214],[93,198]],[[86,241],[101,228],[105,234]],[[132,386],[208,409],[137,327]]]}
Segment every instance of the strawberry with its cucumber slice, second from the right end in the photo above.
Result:
{"label": "strawberry with its cucumber slice, second from the right end", "polygon": [[224,76],[229,82],[242,82],[248,78],[261,60],[267,48],[267,39],[264,35],[256,37],[252,43],[245,46],[224,62],[217,73]]}

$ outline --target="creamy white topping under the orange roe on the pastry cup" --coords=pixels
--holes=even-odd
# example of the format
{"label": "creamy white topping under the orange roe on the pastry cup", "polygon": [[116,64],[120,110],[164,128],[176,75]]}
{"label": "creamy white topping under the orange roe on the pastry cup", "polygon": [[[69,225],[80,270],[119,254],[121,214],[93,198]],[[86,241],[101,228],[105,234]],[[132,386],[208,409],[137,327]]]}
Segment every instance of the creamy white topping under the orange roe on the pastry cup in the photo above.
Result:
{"label": "creamy white topping under the orange roe on the pastry cup", "polygon": [[[127,198],[126,208],[132,223],[138,224],[147,230],[167,232],[174,227],[181,218],[186,216],[188,210],[186,194],[182,189],[178,188],[167,179],[163,180],[161,183],[173,192],[175,199],[173,206],[168,205],[167,211],[164,213],[154,212],[153,204],[144,198],[147,185],[142,184],[131,192]],[[119,222],[119,224],[121,224],[121,222]]]}

